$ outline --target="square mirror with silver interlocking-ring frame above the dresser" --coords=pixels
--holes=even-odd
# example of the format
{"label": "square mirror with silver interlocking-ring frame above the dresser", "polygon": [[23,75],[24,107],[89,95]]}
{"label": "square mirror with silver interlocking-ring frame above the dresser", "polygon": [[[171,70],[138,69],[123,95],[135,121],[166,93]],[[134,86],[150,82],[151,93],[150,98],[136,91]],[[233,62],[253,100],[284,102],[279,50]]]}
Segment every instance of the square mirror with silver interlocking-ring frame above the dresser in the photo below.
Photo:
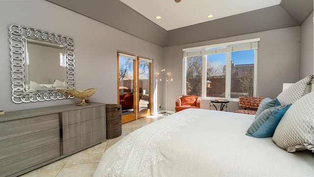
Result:
{"label": "square mirror with silver interlocking-ring frame above the dresser", "polygon": [[9,26],[12,101],[29,103],[73,98],[74,40],[38,29]]}

